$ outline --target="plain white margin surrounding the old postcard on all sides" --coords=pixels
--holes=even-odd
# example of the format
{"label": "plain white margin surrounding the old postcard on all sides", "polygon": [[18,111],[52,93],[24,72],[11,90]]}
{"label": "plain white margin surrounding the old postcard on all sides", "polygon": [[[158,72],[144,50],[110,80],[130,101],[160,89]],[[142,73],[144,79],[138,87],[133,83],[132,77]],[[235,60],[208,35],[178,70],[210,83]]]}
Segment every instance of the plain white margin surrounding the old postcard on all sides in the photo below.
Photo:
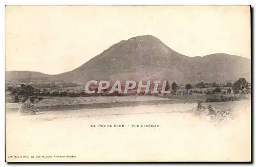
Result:
{"label": "plain white margin surrounding the old postcard on all sides", "polygon": [[[18,0],[12,0],[12,1],[1,1],[1,8],[0,8],[0,18],[1,18],[1,49],[0,53],[2,54],[0,63],[0,75],[1,78],[3,79],[2,82],[0,82],[0,97],[1,97],[1,118],[2,118],[2,128],[0,134],[2,135],[1,137],[1,163],[3,165],[7,165],[5,163],[5,5],[252,5],[252,7],[255,7],[255,2],[252,0],[243,0],[243,1],[237,1],[237,0],[232,0],[232,1],[224,1],[224,0],[212,0],[212,1],[203,1],[203,0],[197,0],[197,1],[189,1],[189,0],[179,0],[179,1],[166,1],[166,0],[157,0],[157,1],[152,1],[152,0],[147,0],[147,1],[142,1],[142,0],[126,0],[126,1],[114,1],[114,0],[109,0],[109,1],[103,1],[103,0],[84,0],[84,1],[78,1],[78,0],[72,0],[72,1],[67,1],[67,0],[26,0],[26,1],[18,1]],[[253,13],[253,22],[255,19],[255,10]],[[254,37],[254,35],[253,35]],[[255,43],[253,42],[253,46],[255,46]],[[255,47],[254,47],[255,49]],[[254,54],[252,54],[254,55]],[[255,64],[255,59],[253,60],[253,63]],[[253,74],[256,74],[255,68],[253,69]],[[255,87],[255,83],[253,82],[253,88]],[[252,94],[252,96],[254,93]],[[254,97],[254,96],[253,96]],[[253,100],[253,102],[255,99]],[[253,119],[255,120],[255,113]],[[253,126],[253,129],[255,130],[255,127]],[[239,134],[238,134],[239,135]],[[253,149],[254,150],[254,149]],[[254,158],[255,160],[255,154]],[[4,163],[3,163],[4,162]],[[33,164],[35,165],[35,164]],[[45,165],[45,164],[44,164]],[[70,165],[70,164],[68,164]],[[87,164],[90,165],[90,164]],[[132,164],[134,165],[134,164]],[[156,164],[159,165],[159,164]],[[184,165],[184,164],[181,164]],[[197,165],[197,164],[195,164]],[[223,165],[223,164],[218,164],[218,165]],[[1,165],[2,166],[2,165]]]}

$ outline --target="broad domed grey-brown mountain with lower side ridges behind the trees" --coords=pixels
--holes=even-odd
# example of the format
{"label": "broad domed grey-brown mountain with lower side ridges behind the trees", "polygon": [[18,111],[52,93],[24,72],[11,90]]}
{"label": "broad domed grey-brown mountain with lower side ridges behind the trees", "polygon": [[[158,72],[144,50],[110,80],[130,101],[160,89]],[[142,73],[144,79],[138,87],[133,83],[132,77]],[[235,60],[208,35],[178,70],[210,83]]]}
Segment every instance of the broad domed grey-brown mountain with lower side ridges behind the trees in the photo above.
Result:
{"label": "broad domed grey-brown mountain with lower side ridges behind the trees", "polygon": [[[165,79],[177,83],[225,83],[241,77],[250,81],[250,62],[248,58],[223,53],[188,57],[170,49],[158,38],[144,35],[122,40],[67,73],[31,76],[42,81]],[[7,71],[6,79],[20,78],[25,76],[23,73]]]}

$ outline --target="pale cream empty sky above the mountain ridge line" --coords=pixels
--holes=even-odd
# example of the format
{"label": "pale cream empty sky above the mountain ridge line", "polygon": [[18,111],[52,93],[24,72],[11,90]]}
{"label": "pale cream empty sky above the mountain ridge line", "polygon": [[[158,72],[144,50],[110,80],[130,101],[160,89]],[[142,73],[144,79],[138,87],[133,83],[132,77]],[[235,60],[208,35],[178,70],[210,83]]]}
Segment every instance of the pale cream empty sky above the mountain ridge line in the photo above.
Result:
{"label": "pale cream empty sky above the mountain ridge line", "polygon": [[147,34],[190,57],[251,57],[249,6],[6,6],[6,70],[65,73]]}

